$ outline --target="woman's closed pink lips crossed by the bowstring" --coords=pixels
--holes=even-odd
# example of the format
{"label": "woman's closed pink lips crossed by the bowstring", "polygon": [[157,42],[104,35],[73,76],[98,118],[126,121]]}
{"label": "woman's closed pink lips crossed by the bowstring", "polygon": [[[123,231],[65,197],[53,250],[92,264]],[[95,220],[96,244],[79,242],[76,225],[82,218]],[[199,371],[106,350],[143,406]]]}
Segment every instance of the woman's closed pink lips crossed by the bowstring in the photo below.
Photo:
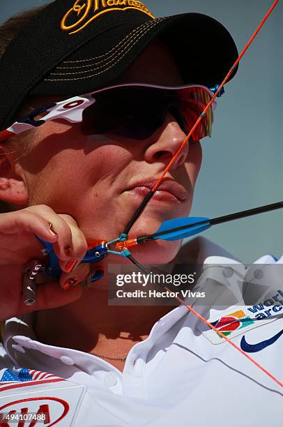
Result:
{"label": "woman's closed pink lips crossed by the bowstring", "polygon": [[[135,195],[146,197],[156,181],[157,179],[139,181],[132,184],[127,191]],[[178,200],[179,202],[185,202],[185,200],[188,200],[188,193],[185,188],[174,181],[174,179],[165,179],[155,191],[153,198],[156,200]]]}

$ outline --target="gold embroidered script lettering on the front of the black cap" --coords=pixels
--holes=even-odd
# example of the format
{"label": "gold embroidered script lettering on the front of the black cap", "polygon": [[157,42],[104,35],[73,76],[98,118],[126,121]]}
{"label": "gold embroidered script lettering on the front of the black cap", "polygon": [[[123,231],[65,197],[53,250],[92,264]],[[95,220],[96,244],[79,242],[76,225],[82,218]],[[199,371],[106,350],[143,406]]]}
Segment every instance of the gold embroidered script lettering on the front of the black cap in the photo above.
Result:
{"label": "gold embroidered script lettering on the front of the black cap", "polygon": [[69,31],[69,34],[79,33],[93,20],[104,13],[113,10],[134,9],[154,18],[153,14],[144,6],[142,1],[136,0],[76,0],[72,8],[61,20],[61,30]]}

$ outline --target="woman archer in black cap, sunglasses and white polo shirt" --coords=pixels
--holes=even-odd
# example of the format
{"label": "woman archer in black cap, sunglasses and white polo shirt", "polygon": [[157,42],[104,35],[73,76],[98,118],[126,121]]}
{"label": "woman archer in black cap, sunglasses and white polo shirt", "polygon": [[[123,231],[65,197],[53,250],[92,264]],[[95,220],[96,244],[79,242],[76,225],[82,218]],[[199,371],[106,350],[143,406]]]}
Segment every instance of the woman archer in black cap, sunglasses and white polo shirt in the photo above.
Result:
{"label": "woman archer in black cap, sunglasses and white polo shirt", "polygon": [[[39,15],[38,11],[31,13],[29,24],[26,17],[22,19],[26,27],[3,55],[1,73],[8,68],[9,54],[12,56],[13,50],[19,47],[17,43],[26,45],[26,40],[31,43],[25,52],[29,61],[24,59],[23,63],[30,69],[16,88],[13,81],[10,82],[14,78],[11,77],[2,89],[4,95],[9,91],[9,96],[6,96],[6,111],[1,112],[1,128],[15,121],[12,117],[19,119],[31,108],[52,105],[110,85],[138,82],[180,87],[197,81],[209,87],[221,81],[220,77],[229,69],[227,64],[231,66],[236,59],[231,36],[210,18],[189,14],[164,24],[164,21],[155,22],[140,2],[127,5],[121,2],[118,10],[112,3],[96,2],[94,12],[89,3],[83,5],[77,1],[72,7],[70,1],[55,1]],[[43,28],[43,22],[49,22],[49,26],[36,33],[39,40],[35,41],[31,35]],[[199,29],[201,23],[204,27]],[[148,29],[145,31],[141,26]],[[222,61],[215,61],[220,66],[212,65],[211,70],[206,71],[209,77],[198,56],[197,37],[190,52],[192,58],[199,59],[197,66],[192,66],[192,62],[188,70],[188,63],[185,59],[181,61],[180,52],[184,31],[201,33],[204,29],[215,38],[215,43],[226,47],[227,53],[221,54]],[[141,33],[139,38],[137,34]],[[72,38],[75,35],[78,39]],[[43,38],[49,50],[45,49],[37,61],[34,44],[40,45]],[[116,45],[116,40],[125,42],[123,54],[119,54],[121,44]],[[99,51],[102,41],[108,46],[108,66],[100,65],[100,61],[104,61],[103,50]],[[98,52],[93,52],[95,46]],[[115,46],[118,47],[114,49]],[[125,53],[127,49],[129,52]],[[107,68],[113,56],[116,68],[109,74]],[[91,69],[103,67],[103,73],[98,71],[95,78],[93,71],[89,74],[89,61],[93,61],[93,57],[96,63],[93,66],[91,62]],[[31,58],[36,66],[31,64]],[[89,77],[76,80],[80,78],[77,76],[86,75]],[[112,109],[109,110],[108,104],[108,110],[103,112],[109,114],[107,117],[111,114],[112,118],[113,110],[118,114],[121,105],[117,99],[121,102],[121,97],[112,96]],[[20,108],[17,113],[15,104]],[[148,126],[147,111],[143,114],[141,120],[145,117]],[[104,117],[102,114],[100,118]],[[82,123],[84,126],[84,121]],[[121,132],[117,134],[116,129],[87,133],[81,123],[60,119],[47,121],[44,126],[1,144],[0,199],[6,207],[0,216],[1,320],[15,316],[6,322],[1,380],[43,379],[41,384],[26,383],[29,403],[24,405],[29,412],[48,414],[49,422],[61,417],[62,426],[185,426],[188,425],[185,411],[189,407],[192,425],[203,426],[208,423],[207,414],[195,405],[204,398],[204,391],[211,397],[215,387],[227,390],[229,384],[240,381],[246,383],[247,392],[239,397],[236,387],[232,387],[229,388],[232,395],[243,402],[248,395],[257,403],[259,394],[261,398],[263,394],[269,396],[267,389],[272,389],[275,395],[272,405],[277,407],[276,387],[261,373],[257,373],[260,383],[257,386],[248,362],[238,355],[234,360],[234,349],[223,348],[227,343],[220,345],[224,354],[220,356],[219,346],[215,349],[208,342],[197,329],[197,320],[191,320],[184,307],[173,310],[170,306],[108,306],[107,274],[90,290],[84,291],[79,286],[95,269],[95,264],[79,264],[88,245],[109,241],[121,234],[185,136],[180,117],[168,108],[160,126],[135,141]],[[179,153],[167,175],[166,185],[148,202],[129,237],[151,233],[169,218],[188,216],[200,167],[200,142],[191,141]],[[45,262],[45,256],[40,253],[43,246],[34,234],[53,244],[63,272],[59,280],[48,283],[46,278],[42,278],[41,283],[38,280],[36,304],[24,306],[21,291],[26,265],[33,259]],[[195,262],[194,246],[181,251],[180,246],[181,242],[154,242],[131,251],[142,263],[178,262],[184,253],[185,258],[192,253],[191,262]],[[105,272],[111,262],[110,257],[103,260]],[[241,264],[236,266],[235,269],[242,271]],[[206,364],[209,355],[212,359],[221,357],[220,366],[213,367],[213,362]],[[230,369],[232,360],[234,364]],[[201,375],[204,370],[206,375]],[[62,378],[68,381],[62,382]],[[23,413],[20,391],[14,391],[17,398],[3,397],[2,412]],[[44,403],[44,410],[36,397]],[[62,413],[57,407],[60,399],[65,408]],[[227,409],[222,410],[218,418],[214,407],[209,411],[212,411],[212,426],[228,421]],[[248,415],[247,409],[245,416]],[[229,424],[238,425],[238,419],[236,421],[233,424],[233,420],[229,420]]]}

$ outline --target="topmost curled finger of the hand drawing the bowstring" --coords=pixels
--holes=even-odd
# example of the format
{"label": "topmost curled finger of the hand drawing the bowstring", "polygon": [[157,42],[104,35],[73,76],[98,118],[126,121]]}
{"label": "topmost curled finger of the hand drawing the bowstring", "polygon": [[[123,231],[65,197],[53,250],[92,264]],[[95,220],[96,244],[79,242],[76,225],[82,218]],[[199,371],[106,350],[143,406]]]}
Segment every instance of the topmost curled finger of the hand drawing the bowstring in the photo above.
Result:
{"label": "topmost curled finger of the hand drawing the bowstring", "polygon": [[32,211],[21,209],[20,211],[1,213],[0,233],[15,234],[21,231],[36,234],[49,243],[54,243],[58,239],[58,236],[50,232],[48,220]]}

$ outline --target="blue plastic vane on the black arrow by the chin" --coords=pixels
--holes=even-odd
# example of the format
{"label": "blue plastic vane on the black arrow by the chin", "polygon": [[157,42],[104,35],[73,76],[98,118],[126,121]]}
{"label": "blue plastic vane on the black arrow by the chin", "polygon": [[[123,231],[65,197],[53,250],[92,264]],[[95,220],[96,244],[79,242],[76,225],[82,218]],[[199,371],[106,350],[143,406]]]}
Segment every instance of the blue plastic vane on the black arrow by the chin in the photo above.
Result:
{"label": "blue plastic vane on the black arrow by the chin", "polygon": [[[201,223],[200,225],[195,225]],[[178,231],[168,231],[171,228],[183,227],[184,225],[188,225],[188,230],[178,230]],[[210,219],[204,218],[201,216],[192,216],[191,218],[175,218],[171,220],[167,220],[160,225],[156,233],[165,232],[162,236],[156,236],[156,239],[175,241],[179,239],[185,239],[185,237],[194,236],[194,234],[199,234],[204,230],[207,230],[211,227]],[[167,232],[167,233],[166,233]]]}

